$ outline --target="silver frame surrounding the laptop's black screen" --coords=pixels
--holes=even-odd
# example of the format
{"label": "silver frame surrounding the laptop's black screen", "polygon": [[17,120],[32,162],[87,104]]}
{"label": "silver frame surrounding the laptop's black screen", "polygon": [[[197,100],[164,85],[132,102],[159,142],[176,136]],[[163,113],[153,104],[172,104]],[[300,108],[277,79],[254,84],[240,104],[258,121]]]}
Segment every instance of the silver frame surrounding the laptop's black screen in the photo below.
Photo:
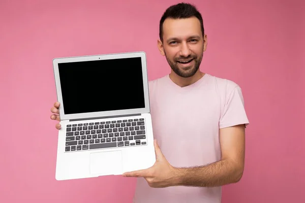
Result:
{"label": "silver frame surrounding the laptop's black screen", "polygon": [[[144,108],[139,109],[127,109],[127,110],[115,110],[115,111],[104,111],[104,112],[89,112],[89,113],[78,113],[78,114],[65,114],[65,103],[63,102],[62,88],[60,86],[60,77],[58,70],[58,63],[65,62],[78,62],[78,61],[93,61],[93,60],[107,60],[116,58],[132,58],[141,57],[142,62],[142,76],[143,76],[143,90],[144,90]],[[56,86],[57,101],[60,103],[59,112],[60,120],[70,119],[92,119],[99,117],[112,117],[112,116],[124,116],[133,114],[149,113],[149,92],[148,92],[148,77],[147,77],[147,66],[146,66],[146,53],[141,52],[129,52],[129,53],[115,53],[115,54],[102,54],[92,56],[76,56],[76,57],[64,57],[53,59],[53,70]]]}

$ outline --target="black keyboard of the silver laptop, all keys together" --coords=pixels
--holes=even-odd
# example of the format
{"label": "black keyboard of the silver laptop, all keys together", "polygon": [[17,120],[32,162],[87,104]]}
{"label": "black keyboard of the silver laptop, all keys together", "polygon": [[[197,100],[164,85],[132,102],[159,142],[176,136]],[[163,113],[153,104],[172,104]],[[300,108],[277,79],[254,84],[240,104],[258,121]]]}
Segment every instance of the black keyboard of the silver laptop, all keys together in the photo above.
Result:
{"label": "black keyboard of the silver laptop, all keys together", "polygon": [[66,126],[66,152],[146,145],[144,118]]}

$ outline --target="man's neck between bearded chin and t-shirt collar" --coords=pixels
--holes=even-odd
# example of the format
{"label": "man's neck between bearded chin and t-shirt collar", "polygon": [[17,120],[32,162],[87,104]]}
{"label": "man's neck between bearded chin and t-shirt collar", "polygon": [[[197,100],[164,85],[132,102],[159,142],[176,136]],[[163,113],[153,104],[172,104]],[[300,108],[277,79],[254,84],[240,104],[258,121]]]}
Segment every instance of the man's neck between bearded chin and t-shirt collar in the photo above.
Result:
{"label": "man's neck between bearded chin and t-shirt collar", "polygon": [[178,76],[175,72],[171,71],[171,73],[169,74],[169,78],[176,85],[178,85],[180,87],[186,87],[191,84],[194,84],[195,82],[200,80],[204,75],[205,75],[205,73],[200,72],[198,69],[198,71],[192,77],[183,78],[183,77]]}

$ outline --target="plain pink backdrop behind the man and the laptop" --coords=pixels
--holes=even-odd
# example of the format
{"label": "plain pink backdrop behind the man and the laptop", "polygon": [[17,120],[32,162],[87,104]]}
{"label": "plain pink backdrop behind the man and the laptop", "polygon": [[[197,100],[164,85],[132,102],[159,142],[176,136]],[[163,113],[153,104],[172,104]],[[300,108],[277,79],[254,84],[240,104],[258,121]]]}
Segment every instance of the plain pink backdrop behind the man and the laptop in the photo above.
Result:
{"label": "plain pink backdrop behind the man and the laptop", "polygon": [[[131,202],[135,179],[56,181],[54,57],[145,51],[170,72],[159,20],[178,1],[0,2],[0,201]],[[192,1],[208,37],[201,70],[237,82],[250,119],[245,173],[223,202],[305,202],[304,1]]]}

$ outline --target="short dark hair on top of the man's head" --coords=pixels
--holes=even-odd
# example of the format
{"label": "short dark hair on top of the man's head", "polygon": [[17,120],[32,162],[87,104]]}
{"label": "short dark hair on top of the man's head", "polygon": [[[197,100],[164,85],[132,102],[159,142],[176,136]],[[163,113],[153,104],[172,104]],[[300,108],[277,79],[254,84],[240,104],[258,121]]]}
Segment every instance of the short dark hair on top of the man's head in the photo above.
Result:
{"label": "short dark hair on top of the man's head", "polygon": [[203,37],[204,36],[203,20],[196,6],[189,3],[179,3],[176,5],[172,5],[168,9],[166,9],[163,16],[161,17],[160,26],[159,26],[160,40],[163,42],[163,23],[166,18],[184,19],[190,17],[196,17],[200,21],[202,37]]}

